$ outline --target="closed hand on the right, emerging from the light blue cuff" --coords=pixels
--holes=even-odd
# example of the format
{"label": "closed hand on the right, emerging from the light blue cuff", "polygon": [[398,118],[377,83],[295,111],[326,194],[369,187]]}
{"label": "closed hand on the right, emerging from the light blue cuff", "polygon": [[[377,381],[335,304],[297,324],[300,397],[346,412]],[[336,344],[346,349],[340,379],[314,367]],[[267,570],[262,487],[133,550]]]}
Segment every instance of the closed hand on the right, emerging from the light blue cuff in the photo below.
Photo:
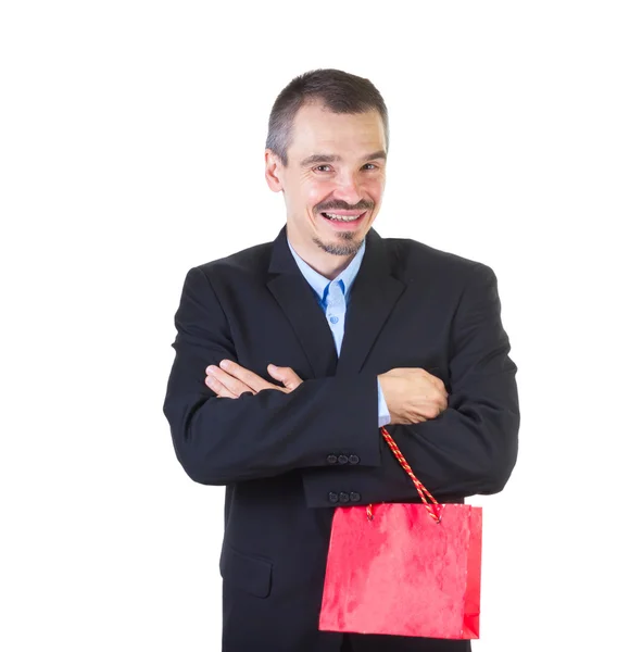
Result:
{"label": "closed hand on the right, emerging from the light blue cuff", "polygon": [[443,383],[425,369],[399,367],[378,378],[392,424],[418,424],[438,417],[448,408]]}

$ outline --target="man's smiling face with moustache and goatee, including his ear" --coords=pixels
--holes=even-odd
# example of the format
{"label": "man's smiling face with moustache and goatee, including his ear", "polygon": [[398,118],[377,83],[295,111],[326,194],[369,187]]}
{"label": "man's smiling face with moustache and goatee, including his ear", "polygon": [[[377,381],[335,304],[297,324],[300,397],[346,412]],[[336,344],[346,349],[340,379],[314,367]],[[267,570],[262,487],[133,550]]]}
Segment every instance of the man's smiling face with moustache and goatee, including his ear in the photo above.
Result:
{"label": "man's smiling face with moustache and goatee, including his ear", "polygon": [[266,150],[266,177],[273,190],[284,191],[288,237],[298,251],[347,256],[358,250],[383,197],[385,150],[375,110],[332,113],[318,103],[299,110],[288,166]]}

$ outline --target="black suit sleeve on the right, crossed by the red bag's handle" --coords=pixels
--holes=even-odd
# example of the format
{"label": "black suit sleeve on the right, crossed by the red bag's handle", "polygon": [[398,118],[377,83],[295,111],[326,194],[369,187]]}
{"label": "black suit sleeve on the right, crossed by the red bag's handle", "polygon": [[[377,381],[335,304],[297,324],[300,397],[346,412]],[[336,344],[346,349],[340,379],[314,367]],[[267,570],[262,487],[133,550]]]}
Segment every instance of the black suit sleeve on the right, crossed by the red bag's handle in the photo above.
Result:
{"label": "black suit sleeve on the right, crossed by the red bag's handle", "polygon": [[[502,326],[498,281],[478,263],[452,321],[449,405],[437,418],[391,425],[415,475],[436,497],[495,493],[503,489],[517,457],[519,409],[508,337]],[[383,444],[374,468],[304,472],[309,506],[328,506],[328,491],[361,496],[360,504],[418,500],[416,489]]]}

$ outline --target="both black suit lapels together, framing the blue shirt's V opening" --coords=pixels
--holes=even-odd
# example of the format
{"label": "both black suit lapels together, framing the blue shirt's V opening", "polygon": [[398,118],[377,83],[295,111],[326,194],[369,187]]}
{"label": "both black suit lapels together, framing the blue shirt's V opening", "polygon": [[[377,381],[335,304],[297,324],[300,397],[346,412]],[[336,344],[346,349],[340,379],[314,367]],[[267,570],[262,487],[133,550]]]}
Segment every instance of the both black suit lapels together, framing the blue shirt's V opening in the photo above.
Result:
{"label": "both black suit lapels together, framing the blue shirt's V opening", "polygon": [[405,285],[390,275],[390,264],[381,237],[373,229],[366,236],[366,251],[352,286],[345,317],[341,355],[330,327],[290,252],[286,226],[274,241],[267,281],[305,352],[312,375],[357,374],[373,348]]}

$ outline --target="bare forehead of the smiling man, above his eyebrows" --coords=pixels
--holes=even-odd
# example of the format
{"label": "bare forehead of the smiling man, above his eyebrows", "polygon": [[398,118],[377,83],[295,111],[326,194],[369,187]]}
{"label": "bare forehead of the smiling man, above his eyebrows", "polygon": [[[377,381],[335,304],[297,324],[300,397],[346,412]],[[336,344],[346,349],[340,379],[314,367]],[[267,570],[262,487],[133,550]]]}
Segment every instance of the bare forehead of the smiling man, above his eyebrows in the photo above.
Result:
{"label": "bare forehead of the smiling man, above his eyebrows", "polygon": [[294,116],[290,153],[352,153],[355,156],[386,149],[383,121],[377,110],[333,113],[320,104],[305,104]]}

